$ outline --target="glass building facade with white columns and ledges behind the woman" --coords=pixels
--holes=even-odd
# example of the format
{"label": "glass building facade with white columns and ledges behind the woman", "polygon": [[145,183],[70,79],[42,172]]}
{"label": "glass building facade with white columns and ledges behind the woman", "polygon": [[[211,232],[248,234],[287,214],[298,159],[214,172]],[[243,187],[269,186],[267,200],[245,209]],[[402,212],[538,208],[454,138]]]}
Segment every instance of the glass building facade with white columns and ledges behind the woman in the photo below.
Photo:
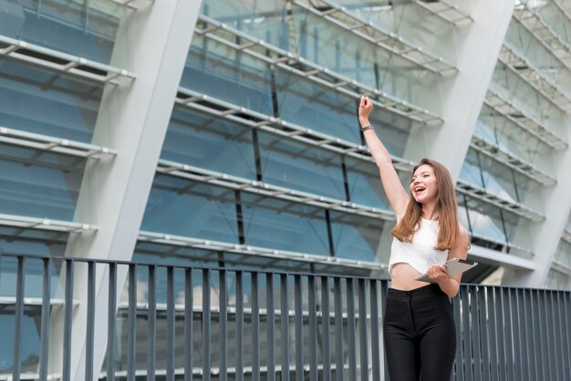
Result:
{"label": "glass building facade with white columns and ledges behind the woman", "polygon": [[[419,131],[422,144],[463,147],[452,175],[469,256],[481,263],[465,282],[568,289],[571,14],[563,0],[502,2],[509,17],[485,21],[478,3],[167,6],[184,8],[184,19],[146,0],[0,0],[0,254],[386,278],[395,217],[358,129],[366,94],[403,181]],[[145,53],[160,34],[133,33],[140,20],[187,32]],[[479,115],[452,126],[469,139],[447,140],[438,131],[455,108],[466,36],[486,22],[504,33],[487,41],[499,51],[473,46],[493,56],[478,68]],[[140,57],[157,57],[156,70],[138,70]],[[170,88],[156,85],[165,77]],[[139,127],[125,121],[141,114]],[[124,179],[116,190],[114,179]],[[50,271],[56,315],[63,272]],[[30,373],[41,272],[26,266],[20,362]],[[3,344],[15,276],[16,261],[0,257],[0,376],[15,363]],[[127,324],[120,304],[118,321]]]}

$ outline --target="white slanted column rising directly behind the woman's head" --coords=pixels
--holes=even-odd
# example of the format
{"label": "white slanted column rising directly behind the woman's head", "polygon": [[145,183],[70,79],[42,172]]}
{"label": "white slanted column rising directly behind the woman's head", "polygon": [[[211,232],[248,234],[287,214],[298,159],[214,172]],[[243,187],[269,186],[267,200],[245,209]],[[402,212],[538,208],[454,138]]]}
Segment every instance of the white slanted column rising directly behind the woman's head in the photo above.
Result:
{"label": "white slanted column rising directly behind the woman's head", "polygon": [[444,123],[413,129],[406,159],[438,160],[458,180],[513,12],[512,0],[472,2],[472,25],[458,29],[458,74],[441,85]]}

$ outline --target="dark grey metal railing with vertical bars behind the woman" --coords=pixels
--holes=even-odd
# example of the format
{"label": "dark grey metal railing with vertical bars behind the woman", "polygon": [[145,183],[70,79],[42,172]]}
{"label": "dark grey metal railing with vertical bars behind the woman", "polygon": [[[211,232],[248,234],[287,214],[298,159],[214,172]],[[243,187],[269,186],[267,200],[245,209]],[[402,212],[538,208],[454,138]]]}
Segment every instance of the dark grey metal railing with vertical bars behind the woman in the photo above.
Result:
{"label": "dark grey metal railing with vertical bars behind the woman", "polygon": [[[0,356],[22,359],[24,345],[37,354],[31,365],[0,357],[0,379],[389,380],[386,280],[4,254],[0,284],[0,318],[15,337]],[[101,285],[109,293],[99,310]],[[452,304],[454,380],[571,379],[569,291],[462,284]],[[31,349],[25,315],[39,324]],[[96,345],[98,324],[106,345]],[[72,370],[75,341],[85,362]],[[98,353],[107,353],[101,368]]]}

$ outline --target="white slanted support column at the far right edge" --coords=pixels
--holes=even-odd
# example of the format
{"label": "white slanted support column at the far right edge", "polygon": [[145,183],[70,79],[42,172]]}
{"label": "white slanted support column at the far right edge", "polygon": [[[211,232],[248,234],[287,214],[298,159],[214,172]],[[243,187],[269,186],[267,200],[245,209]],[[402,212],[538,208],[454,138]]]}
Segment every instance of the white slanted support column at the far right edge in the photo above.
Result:
{"label": "white slanted support column at the far right edge", "polygon": [[[571,116],[566,114],[562,120],[566,129],[567,142],[571,142]],[[545,205],[545,220],[530,226],[531,249],[535,252],[532,261],[535,263],[534,272],[516,271],[506,269],[502,283],[514,286],[525,287],[545,287],[547,275],[551,263],[555,260],[557,246],[561,240],[567,224],[567,216],[571,211],[571,149],[553,152],[553,162],[555,163],[553,173],[557,183],[552,187],[544,187],[538,193],[538,197]]]}

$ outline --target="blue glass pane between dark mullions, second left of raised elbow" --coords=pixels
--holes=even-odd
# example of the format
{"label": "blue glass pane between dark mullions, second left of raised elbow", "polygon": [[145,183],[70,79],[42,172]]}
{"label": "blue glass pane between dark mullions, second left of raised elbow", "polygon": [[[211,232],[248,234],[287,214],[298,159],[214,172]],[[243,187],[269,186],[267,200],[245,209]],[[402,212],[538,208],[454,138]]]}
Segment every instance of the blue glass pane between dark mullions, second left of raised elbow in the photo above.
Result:
{"label": "blue glass pane between dark mullions, second left of raised elbow", "polygon": [[345,183],[337,152],[258,133],[264,181],[320,196],[345,200]]}

